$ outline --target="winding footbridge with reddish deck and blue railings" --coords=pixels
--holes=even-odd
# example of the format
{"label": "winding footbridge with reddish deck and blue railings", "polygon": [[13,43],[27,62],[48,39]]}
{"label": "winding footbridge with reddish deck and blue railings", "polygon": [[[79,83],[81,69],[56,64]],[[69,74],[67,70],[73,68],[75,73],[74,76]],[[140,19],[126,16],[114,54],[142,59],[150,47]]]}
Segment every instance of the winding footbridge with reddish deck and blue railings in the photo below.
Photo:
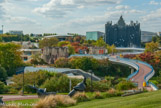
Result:
{"label": "winding footbridge with reddish deck and blue railings", "polygon": [[[119,63],[123,65],[127,65],[131,68],[131,75],[128,76],[127,80],[131,80],[132,82],[138,85],[139,89],[147,89],[147,90],[158,90],[158,88],[149,83],[149,79],[153,77],[155,71],[151,65],[146,62],[142,62],[139,60],[132,60],[126,58],[120,58],[118,56],[107,56],[107,55],[71,55],[70,57],[94,57],[96,59],[105,59],[108,58],[113,63]],[[146,83],[146,86],[143,86],[143,83]]]}

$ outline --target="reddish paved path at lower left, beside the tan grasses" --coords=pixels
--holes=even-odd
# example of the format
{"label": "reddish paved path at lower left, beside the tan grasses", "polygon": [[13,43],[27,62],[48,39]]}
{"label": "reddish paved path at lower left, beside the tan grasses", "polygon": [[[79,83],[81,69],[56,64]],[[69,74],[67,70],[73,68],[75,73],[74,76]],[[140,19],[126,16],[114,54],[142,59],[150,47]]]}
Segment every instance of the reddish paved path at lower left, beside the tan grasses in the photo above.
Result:
{"label": "reddish paved path at lower left, beside the tan grasses", "polygon": [[3,97],[3,101],[15,101],[15,100],[25,100],[25,99],[37,99],[37,95],[26,95],[26,96],[20,96],[20,95],[0,95],[0,97]]}

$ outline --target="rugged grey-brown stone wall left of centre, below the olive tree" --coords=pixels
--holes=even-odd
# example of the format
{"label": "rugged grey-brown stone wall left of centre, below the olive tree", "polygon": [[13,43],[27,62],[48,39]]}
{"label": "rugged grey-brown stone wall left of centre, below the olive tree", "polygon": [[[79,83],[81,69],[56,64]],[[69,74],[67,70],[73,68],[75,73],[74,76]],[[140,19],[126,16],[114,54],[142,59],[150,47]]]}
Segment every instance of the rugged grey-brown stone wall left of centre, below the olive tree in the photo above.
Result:
{"label": "rugged grey-brown stone wall left of centre, below the olive tree", "polygon": [[59,57],[68,57],[67,47],[45,47],[43,48],[42,58],[48,64],[54,64],[54,61]]}

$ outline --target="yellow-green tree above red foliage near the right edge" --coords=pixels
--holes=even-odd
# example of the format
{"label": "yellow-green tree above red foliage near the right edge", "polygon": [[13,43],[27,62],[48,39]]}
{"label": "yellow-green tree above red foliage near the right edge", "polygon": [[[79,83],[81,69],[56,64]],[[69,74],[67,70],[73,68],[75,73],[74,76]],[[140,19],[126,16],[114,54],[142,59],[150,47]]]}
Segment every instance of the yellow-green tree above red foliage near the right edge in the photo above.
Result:
{"label": "yellow-green tree above red foliage near the right edge", "polygon": [[158,42],[150,42],[145,45],[145,52],[155,52],[159,49]]}

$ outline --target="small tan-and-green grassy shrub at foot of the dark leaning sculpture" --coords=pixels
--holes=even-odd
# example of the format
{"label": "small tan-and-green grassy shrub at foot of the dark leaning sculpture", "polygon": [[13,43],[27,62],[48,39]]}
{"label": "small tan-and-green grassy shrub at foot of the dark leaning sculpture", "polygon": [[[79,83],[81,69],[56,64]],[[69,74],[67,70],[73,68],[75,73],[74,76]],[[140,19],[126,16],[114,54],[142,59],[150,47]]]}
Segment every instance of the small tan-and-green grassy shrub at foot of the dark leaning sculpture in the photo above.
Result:
{"label": "small tan-and-green grassy shrub at foot of the dark leaning sculpture", "polygon": [[77,102],[84,102],[84,101],[89,101],[89,97],[85,94],[85,92],[78,92],[76,93],[73,98],[77,100]]}

